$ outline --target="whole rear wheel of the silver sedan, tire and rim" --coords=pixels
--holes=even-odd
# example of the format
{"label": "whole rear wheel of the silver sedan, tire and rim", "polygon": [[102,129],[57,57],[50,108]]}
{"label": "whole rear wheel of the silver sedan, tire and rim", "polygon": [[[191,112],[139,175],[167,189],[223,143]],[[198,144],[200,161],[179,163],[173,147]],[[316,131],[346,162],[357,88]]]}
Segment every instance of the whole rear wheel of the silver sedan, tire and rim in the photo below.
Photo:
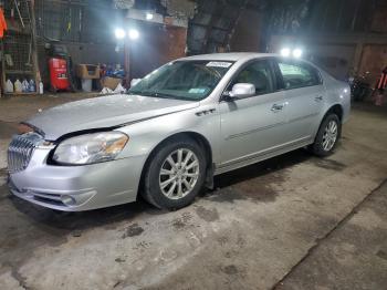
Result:
{"label": "whole rear wheel of the silver sedan, tire and rim", "polygon": [[[336,130],[334,130],[333,124],[335,124]],[[328,114],[321,123],[315,141],[311,145],[312,153],[321,157],[331,155],[336,148],[341,135],[342,123],[338,116],[333,113]]]}

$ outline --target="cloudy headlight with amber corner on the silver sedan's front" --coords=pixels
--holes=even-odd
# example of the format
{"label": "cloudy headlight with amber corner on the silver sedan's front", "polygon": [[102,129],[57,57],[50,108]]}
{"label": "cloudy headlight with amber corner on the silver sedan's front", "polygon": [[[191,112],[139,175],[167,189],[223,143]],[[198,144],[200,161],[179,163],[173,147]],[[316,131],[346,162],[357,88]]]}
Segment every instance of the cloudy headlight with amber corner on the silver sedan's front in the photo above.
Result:
{"label": "cloudy headlight with amber corner on the silver sedan's front", "polygon": [[92,164],[114,159],[129,137],[112,131],[85,134],[60,143],[52,159],[61,164]]}

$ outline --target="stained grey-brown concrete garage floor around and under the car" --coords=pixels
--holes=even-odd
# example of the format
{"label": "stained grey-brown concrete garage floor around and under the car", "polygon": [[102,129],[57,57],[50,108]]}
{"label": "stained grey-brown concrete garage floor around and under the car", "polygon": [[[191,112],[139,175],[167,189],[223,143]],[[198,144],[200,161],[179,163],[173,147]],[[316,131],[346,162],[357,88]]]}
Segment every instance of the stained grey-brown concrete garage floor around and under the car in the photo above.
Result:
{"label": "stained grey-brown concrete garage floor around and under the car", "polygon": [[330,158],[296,151],[224,174],[174,213],[55,213],[10,196],[17,122],[77,97],[0,101],[1,289],[386,289],[385,108],[355,108]]}

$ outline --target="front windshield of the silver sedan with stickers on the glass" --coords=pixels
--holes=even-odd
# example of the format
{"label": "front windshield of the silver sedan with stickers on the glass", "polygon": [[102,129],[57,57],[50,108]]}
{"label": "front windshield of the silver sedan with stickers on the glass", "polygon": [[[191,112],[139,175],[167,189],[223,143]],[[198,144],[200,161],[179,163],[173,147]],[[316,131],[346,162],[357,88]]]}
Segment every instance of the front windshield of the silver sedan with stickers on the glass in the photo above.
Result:
{"label": "front windshield of the silver sedan with stickers on the glass", "polygon": [[233,62],[170,62],[130,87],[129,94],[199,101],[207,97]]}

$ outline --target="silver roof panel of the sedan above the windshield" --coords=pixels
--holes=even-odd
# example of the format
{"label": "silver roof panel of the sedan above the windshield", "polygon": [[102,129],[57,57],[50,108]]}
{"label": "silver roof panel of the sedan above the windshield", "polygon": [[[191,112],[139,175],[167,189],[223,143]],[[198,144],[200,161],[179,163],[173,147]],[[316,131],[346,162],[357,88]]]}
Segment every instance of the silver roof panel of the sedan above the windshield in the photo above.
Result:
{"label": "silver roof panel of the sedan above the windshield", "polygon": [[274,53],[230,52],[230,53],[198,54],[194,56],[179,59],[179,61],[240,61],[240,60],[259,59],[259,58],[268,58],[268,56],[279,56],[279,55]]}

